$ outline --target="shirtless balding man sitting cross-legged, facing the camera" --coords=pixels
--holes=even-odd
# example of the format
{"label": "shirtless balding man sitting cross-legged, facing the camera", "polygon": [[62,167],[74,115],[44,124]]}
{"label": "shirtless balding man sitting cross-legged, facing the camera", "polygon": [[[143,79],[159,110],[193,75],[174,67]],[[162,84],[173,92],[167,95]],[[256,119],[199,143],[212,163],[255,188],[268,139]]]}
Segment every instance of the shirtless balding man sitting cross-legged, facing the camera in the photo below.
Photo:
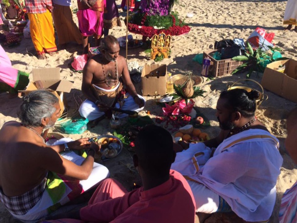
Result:
{"label": "shirtless balding man sitting cross-legged, facing the camera", "polygon": [[[98,119],[108,110],[117,107],[123,110],[140,111],[145,99],[137,94],[131,81],[127,62],[119,55],[119,42],[114,36],[106,36],[100,44],[100,52],[83,68],[81,91],[86,100],[79,113],[89,121]],[[127,90],[124,93],[123,84]],[[119,114],[119,118],[127,116]]]}

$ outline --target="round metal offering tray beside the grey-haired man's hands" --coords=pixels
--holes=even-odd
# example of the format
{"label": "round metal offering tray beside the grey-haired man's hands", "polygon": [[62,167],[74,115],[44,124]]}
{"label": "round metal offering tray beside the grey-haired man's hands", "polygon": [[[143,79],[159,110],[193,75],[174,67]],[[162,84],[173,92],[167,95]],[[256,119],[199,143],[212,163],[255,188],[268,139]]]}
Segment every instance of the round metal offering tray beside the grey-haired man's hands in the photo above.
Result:
{"label": "round metal offering tray beside the grey-haired man's hands", "polygon": [[102,154],[101,160],[109,160],[119,155],[123,149],[123,142],[113,135],[102,135],[90,138],[89,141],[95,141],[101,144],[100,153]]}

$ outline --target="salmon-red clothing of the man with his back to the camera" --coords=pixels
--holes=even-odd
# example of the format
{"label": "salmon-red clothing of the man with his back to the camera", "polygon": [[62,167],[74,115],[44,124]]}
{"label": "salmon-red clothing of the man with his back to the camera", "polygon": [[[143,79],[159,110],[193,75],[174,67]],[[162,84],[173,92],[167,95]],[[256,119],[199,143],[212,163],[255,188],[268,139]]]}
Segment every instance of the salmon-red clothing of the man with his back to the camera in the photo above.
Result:
{"label": "salmon-red clothing of the man with his back to the camera", "polygon": [[[143,191],[125,193],[112,179],[103,181],[89,204],[80,209],[85,222],[112,223],[194,223],[195,201],[189,184],[171,170],[167,182]],[[112,199],[111,199],[112,198]]]}

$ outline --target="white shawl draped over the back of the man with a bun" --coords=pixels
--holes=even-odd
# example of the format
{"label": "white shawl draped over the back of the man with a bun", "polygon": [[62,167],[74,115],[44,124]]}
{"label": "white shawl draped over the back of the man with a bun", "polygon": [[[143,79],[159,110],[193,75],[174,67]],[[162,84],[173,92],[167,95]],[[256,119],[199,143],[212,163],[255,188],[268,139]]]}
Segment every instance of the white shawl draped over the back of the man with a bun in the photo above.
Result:
{"label": "white shawl draped over the back of the man with a bun", "polygon": [[[266,221],[274,208],[275,185],[282,165],[278,146],[277,138],[265,130],[240,132],[225,139],[214,156],[196,174],[186,178],[214,191],[245,221]],[[203,190],[193,186],[191,189],[195,200],[205,197]]]}

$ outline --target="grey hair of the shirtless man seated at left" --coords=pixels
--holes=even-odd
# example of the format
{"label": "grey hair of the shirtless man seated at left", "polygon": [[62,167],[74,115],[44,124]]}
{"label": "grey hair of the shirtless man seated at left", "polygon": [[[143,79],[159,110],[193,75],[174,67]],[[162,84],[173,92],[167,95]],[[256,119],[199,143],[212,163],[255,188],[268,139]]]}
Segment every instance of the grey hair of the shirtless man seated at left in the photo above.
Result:
{"label": "grey hair of the shirtless man seated at left", "polygon": [[59,99],[49,91],[32,91],[23,97],[18,117],[22,124],[38,127],[41,125],[42,118],[51,117],[54,114],[56,111],[54,105],[57,103]]}

